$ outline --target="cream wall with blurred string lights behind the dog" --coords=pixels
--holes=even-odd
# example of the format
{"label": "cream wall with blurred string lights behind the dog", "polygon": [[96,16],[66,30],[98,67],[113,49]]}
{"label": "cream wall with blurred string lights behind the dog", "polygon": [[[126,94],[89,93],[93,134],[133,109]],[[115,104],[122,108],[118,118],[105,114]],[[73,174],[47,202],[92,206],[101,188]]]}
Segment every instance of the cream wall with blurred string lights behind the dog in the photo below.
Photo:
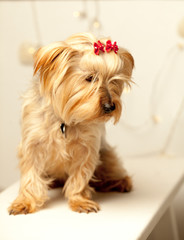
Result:
{"label": "cream wall with blurred string lights behind the dog", "polygon": [[[120,123],[107,126],[119,155],[184,158],[184,1],[1,1],[0,190],[19,179],[20,96],[33,53],[85,31],[111,37],[135,59]],[[183,198],[184,189],[175,200],[181,239]]]}

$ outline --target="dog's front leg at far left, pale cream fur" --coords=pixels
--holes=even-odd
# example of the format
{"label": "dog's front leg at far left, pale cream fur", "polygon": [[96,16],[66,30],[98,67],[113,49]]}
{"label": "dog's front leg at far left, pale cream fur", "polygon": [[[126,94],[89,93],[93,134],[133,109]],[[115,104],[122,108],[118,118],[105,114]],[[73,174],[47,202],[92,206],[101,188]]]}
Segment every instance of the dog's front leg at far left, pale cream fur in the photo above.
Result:
{"label": "dog's front leg at far left, pale cream fur", "polygon": [[22,148],[19,148],[20,190],[18,197],[8,209],[9,214],[35,212],[47,199],[47,186],[50,181],[42,177],[41,162],[43,161],[39,161],[39,152],[37,151],[36,148],[30,148],[29,154],[26,155],[25,152],[22,152]]}

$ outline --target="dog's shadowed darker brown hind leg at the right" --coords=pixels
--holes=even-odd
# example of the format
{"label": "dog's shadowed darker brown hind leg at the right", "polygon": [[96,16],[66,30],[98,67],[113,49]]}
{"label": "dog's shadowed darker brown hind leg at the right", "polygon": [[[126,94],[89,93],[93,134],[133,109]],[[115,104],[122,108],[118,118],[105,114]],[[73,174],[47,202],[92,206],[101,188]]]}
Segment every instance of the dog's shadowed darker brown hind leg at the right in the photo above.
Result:
{"label": "dog's shadowed darker brown hind leg at the right", "polygon": [[132,189],[132,180],[127,175],[126,170],[122,167],[113,148],[101,149],[101,164],[95,171],[95,180],[90,181],[96,191],[99,192],[129,192]]}

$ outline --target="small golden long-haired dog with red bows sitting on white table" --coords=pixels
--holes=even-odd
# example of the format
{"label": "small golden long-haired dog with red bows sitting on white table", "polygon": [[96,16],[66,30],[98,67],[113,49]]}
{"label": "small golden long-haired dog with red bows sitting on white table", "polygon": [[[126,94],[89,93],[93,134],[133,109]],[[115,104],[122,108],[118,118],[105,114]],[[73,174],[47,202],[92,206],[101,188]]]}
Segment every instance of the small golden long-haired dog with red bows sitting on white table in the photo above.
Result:
{"label": "small golden long-haired dog with red bows sitting on white table", "polygon": [[9,214],[39,210],[47,191],[63,184],[76,212],[98,212],[92,193],[129,192],[131,177],[105,140],[105,123],[121,116],[121,94],[132,83],[132,55],[90,33],[40,48],[23,99],[18,148],[21,181]]}

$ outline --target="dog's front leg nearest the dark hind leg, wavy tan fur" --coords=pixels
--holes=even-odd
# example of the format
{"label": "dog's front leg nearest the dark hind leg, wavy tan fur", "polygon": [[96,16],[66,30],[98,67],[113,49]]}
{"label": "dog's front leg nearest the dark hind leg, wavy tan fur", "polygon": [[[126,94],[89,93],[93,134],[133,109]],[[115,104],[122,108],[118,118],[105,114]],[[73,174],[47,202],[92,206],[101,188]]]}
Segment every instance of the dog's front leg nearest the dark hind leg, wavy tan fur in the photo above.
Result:
{"label": "dog's front leg nearest the dark hind leg, wavy tan fur", "polygon": [[[96,202],[91,200],[93,189],[89,187],[88,183],[93,176],[99,156],[95,156],[95,154],[89,156],[89,154],[85,154],[85,151],[81,151],[81,153],[83,156],[80,156],[80,161],[72,163],[69,178],[63,190],[73,211],[80,213],[97,212],[100,208]],[[87,159],[85,159],[86,155]]]}

